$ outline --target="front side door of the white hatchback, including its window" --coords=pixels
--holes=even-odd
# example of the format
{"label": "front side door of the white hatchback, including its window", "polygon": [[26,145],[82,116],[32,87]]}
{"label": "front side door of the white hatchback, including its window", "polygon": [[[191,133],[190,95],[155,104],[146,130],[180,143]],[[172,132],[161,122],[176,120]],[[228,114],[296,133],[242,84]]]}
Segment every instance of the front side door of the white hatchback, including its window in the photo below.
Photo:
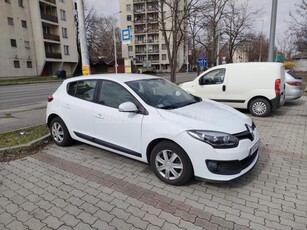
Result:
{"label": "front side door of the white hatchback, including its window", "polygon": [[138,105],[135,97],[117,82],[104,80],[93,108],[96,142],[130,157],[141,157],[143,114],[120,112],[124,102]]}

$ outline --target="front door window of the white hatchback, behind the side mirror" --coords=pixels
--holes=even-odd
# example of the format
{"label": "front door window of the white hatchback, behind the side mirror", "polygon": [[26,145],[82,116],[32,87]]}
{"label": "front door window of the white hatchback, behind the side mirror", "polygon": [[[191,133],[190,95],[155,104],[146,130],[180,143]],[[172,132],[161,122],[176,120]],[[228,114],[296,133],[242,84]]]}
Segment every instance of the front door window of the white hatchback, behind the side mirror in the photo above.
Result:
{"label": "front door window of the white hatchback, behind the side mirror", "polygon": [[133,102],[137,105],[136,99],[123,86],[112,81],[103,81],[99,93],[99,103],[112,108],[118,108],[121,103]]}

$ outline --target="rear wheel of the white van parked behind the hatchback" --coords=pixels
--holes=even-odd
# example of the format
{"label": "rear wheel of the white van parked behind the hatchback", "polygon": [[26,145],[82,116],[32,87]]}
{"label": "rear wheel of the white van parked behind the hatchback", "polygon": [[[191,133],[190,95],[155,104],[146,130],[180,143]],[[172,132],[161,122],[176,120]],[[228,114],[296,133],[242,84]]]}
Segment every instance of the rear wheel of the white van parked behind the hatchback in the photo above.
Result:
{"label": "rear wheel of the white van parked behind the hatchback", "polygon": [[249,104],[249,112],[255,117],[266,117],[270,115],[272,106],[264,98],[253,99]]}

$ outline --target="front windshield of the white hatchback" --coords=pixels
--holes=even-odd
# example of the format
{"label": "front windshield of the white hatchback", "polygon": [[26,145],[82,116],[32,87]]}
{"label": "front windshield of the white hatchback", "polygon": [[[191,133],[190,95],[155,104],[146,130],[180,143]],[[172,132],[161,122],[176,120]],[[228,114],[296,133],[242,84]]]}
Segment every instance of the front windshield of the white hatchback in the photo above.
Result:
{"label": "front windshield of the white hatchback", "polygon": [[201,100],[162,78],[129,81],[126,84],[146,104],[159,109],[176,109]]}

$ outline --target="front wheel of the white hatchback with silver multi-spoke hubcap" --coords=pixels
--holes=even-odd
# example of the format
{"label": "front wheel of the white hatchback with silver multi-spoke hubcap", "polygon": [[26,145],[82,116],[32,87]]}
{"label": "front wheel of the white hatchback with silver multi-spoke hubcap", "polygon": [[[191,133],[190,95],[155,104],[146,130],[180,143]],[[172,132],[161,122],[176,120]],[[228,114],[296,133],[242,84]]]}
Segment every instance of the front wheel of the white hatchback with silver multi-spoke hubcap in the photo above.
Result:
{"label": "front wheel of the white hatchback with silver multi-spoke hubcap", "polygon": [[150,164],[157,177],[171,185],[184,185],[194,174],[186,152],[170,141],[162,141],[153,148]]}

